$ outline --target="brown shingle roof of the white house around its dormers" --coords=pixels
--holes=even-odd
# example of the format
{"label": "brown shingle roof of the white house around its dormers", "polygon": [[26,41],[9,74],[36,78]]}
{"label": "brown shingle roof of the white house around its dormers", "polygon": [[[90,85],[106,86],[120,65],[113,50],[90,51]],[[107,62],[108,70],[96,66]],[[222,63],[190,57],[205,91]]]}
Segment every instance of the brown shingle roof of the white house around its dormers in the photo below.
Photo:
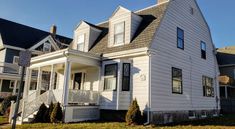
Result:
{"label": "brown shingle roof of the white house around its dormers", "polygon": [[123,46],[108,47],[109,23],[105,22],[103,24],[100,24],[99,27],[102,28],[102,33],[94,43],[93,47],[90,49],[90,52],[105,54],[142,47],[149,47],[151,45],[153,36],[166,12],[167,5],[168,2],[137,12],[136,14],[141,16],[143,20],[140,23],[133,39],[131,40],[131,43]]}

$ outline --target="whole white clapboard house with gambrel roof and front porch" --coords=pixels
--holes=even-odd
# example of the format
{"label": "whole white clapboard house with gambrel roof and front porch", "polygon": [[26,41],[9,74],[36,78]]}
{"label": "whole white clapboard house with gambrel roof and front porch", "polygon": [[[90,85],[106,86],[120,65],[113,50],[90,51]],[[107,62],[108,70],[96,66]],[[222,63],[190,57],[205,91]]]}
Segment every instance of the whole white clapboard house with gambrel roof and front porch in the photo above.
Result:
{"label": "whole white clapboard house with gambrel roof and front porch", "polygon": [[[32,71],[37,87],[29,90]],[[46,89],[43,73],[50,73]],[[195,0],[159,0],[136,12],[118,7],[103,23],[82,21],[69,48],[32,58],[20,112],[27,121],[41,103],[59,101],[64,122],[77,122],[126,111],[136,98],[152,123],[214,116],[218,75]]]}

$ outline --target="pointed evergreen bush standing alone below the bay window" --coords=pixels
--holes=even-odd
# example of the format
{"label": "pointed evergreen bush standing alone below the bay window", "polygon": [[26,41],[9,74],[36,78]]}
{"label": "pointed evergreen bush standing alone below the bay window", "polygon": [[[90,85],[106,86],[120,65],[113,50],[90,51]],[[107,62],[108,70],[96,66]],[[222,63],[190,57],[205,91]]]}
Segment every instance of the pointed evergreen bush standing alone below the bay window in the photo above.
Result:
{"label": "pointed evergreen bush standing alone below the bay window", "polygon": [[135,99],[131,102],[131,105],[126,113],[126,123],[128,125],[132,125],[132,124],[141,124],[141,122],[142,122],[142,116],[140,108],[137,103],[137,100]]}

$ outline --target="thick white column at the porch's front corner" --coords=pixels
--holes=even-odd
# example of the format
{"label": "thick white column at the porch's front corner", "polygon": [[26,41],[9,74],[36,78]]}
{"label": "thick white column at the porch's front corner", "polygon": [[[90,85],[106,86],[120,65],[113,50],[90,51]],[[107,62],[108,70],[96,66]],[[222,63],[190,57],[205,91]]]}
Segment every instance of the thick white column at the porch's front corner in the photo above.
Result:
{"label": "thick white column at the porch's front corner", "polygon": [[65,63],[65,69],[64,69],[64,86],[63,86],[63,95],[62,95],[62,104],[64,106],[68,105],[70,75],[71,75],[71,62],[67,61]]}

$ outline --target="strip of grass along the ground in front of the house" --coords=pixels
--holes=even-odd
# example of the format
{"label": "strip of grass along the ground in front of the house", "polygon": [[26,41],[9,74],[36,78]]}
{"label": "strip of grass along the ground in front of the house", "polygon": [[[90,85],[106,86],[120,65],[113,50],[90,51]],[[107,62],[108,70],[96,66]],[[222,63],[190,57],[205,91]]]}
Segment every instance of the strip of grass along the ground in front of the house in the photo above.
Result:
{"label": "strip of grass along the ground in front of the house", "polygon": [[[24,124],[17,129],[235,129],[235,115],[184,122],[168,126],[126,126],[125,123]],[[10,127],[9,127],[10,129]]]}

